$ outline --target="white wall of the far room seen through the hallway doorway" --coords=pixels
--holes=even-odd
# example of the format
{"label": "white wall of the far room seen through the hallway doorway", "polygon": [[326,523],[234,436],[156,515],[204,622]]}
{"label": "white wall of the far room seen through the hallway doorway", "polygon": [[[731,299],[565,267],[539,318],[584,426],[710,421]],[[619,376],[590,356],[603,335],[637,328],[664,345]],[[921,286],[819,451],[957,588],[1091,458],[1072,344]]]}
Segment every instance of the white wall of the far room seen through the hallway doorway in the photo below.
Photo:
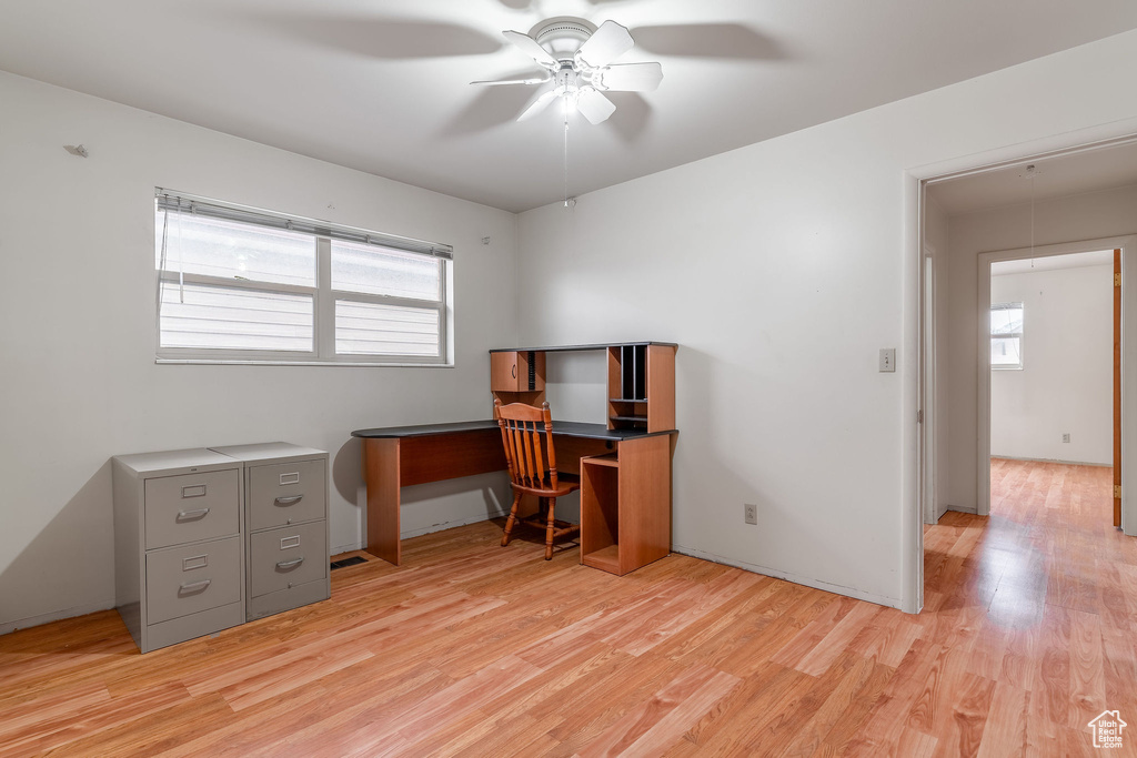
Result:
{"label": "white wall of the far room seen through the hallway doorway", "polygon": [[991,276],[991,302],[1026,314],[1022,370],[991,372],[991,455],[1111,466],[1113,267]]}

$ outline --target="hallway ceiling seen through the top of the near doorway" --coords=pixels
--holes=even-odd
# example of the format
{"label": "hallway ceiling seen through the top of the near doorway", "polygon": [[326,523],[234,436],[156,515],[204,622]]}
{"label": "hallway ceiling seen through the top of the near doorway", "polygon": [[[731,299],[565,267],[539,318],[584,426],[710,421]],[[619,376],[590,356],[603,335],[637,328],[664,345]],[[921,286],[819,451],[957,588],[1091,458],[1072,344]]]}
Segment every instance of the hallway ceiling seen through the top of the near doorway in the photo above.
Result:
{"label": "hallway ceiling seen through the top of the near doorway", "polygon": [[1137,184],[1137,141],[947,180],[930,185],[928,197],[957,216],[1030,202],[1031,193],[1038,202],[1131,184]]}

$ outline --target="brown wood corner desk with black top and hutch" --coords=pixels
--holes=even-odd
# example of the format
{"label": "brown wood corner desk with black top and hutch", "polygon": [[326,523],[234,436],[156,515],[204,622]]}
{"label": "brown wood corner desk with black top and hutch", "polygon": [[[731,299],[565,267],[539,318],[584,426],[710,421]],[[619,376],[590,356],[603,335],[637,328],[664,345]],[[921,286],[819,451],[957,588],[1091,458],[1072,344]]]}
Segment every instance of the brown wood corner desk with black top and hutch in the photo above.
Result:
{"label": "brown wood corner desk with black top and hutch", "polygon": [[[675,350],[662,342],[490,351],[501,405],[545,402],[546,353],[604,350],[607,422],[556,422],[558,474],[581,477],[581,563],[623,575],[671,551]],[[495,420],[356,430],[364,443],[367,551],[401,560],[399,491],[410,484],[506,470]],[[521,503],[525,508],[524,501]]]}

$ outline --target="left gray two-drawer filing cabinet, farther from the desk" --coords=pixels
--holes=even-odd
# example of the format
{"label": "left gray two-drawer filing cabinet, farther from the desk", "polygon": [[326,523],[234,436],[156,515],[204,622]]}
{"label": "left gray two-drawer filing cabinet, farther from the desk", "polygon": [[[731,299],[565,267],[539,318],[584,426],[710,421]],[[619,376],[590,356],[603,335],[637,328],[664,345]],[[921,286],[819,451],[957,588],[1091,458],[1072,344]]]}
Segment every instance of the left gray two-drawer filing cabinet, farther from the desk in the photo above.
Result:
{"label": "left gray two-drawer filing cabinet, farther from the desk", "polygon": [[241,461],[204,448],[111,461],[116,605],[139,649],[243,623]]}

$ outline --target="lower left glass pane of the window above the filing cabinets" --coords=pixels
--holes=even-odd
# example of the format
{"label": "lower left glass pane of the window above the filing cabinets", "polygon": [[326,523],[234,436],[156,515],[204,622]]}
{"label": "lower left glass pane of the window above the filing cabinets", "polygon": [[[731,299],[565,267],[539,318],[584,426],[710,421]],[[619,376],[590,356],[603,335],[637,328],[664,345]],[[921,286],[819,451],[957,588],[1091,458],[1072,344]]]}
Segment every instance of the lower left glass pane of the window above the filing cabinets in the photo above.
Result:
{"label": "lower left glass pane of the window above the filing cabinets", "polygon": [[312,352],[313,298],[164,284],[161,347]]}

